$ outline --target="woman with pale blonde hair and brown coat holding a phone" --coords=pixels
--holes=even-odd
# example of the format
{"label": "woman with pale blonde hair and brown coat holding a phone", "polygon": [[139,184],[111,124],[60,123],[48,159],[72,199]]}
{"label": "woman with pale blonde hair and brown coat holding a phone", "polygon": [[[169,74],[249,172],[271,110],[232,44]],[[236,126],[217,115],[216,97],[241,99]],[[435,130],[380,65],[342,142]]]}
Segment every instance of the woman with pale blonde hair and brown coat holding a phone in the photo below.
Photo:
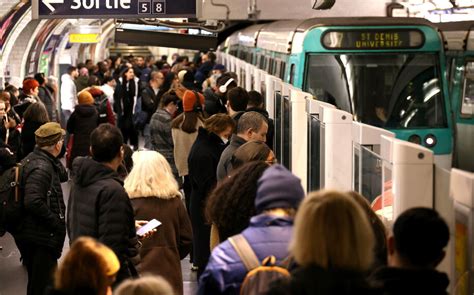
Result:
{"label": "woman with pale blonde hair and brown coat holding a phone", "polygon": [[158,152],[136,152],[124,187],[136,220],[161,222],[157,232],[143,240],[139,272],[163,276],[182,294],[180,261],[191,250],[192,229],[170,165]]}

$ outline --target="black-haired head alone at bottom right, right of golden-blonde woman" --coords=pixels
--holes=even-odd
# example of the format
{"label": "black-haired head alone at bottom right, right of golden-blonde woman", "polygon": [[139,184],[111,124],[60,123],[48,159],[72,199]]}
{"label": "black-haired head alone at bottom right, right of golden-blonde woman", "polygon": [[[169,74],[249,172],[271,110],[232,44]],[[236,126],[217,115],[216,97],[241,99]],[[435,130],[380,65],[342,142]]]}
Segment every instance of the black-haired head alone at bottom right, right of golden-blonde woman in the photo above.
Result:
{"label": "black-haired head alone at bottom right, right of golden-blonde woman", "polygon": [[449,228],[430,208],[412,208],[395,220],[388,238],[388,264],[404,268],[435,268],[444,258]]}

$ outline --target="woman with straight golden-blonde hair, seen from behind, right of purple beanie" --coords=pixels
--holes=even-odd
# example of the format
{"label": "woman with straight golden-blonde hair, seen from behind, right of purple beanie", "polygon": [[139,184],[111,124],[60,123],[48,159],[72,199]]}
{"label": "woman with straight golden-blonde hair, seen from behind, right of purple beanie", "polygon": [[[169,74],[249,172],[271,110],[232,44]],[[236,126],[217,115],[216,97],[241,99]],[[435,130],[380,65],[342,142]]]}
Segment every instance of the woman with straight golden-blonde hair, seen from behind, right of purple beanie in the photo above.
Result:
{"label": "woman with straight golden-blonde hair, seen from behind, right of purple beanie", "polygon": [[347,193],[310,193],[295,219],[290,253],[299,265],[269,294],[377,294],[366,281],[374,234],[363,209]]}

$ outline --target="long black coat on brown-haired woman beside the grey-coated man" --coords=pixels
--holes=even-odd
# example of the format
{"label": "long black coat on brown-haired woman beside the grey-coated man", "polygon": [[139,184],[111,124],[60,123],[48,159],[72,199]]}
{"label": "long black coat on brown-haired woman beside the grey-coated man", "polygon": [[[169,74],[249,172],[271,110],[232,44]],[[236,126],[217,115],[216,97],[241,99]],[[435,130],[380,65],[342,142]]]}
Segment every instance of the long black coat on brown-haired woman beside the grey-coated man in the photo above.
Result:
{"label": "long black coat on brown-haired woman beside the grey-coated man", "polygon": [[211,226],[204,216],[207,197],[217,182],[216,169],[225,144],[219,136],[199,128],[196,141],[188,158],[189,180],[192,192],[190,214],[193,224],[193,262],[202,269],[210,255]]}

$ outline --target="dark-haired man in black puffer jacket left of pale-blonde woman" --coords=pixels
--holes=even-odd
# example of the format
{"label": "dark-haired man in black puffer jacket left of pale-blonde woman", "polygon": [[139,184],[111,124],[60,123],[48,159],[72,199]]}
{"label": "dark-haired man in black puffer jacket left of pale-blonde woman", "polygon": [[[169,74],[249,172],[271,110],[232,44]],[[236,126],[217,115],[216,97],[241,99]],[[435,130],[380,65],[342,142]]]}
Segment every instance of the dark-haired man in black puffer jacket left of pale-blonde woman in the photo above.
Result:
{"label": "dark-haired man in black puffer jacket left of pale-blonde woman", "polygon": [[74,186],[67,216],[71,243],[91,236],[115,252],[120,260],[116,283],[136,275],[138,256],[132,205],[117,174],[122,144],[120,130],[111,124],[101,124],[92,132],[92,158],[79,157],[72,164]]}

